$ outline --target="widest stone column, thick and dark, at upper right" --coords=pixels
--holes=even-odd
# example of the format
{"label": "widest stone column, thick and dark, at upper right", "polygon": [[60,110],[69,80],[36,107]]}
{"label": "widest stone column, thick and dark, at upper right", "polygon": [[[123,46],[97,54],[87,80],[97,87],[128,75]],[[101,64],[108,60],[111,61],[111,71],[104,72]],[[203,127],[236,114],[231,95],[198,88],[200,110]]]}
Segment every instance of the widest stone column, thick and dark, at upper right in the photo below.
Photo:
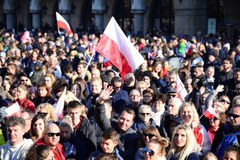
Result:
{"label": "widest stone column, thick and dark, at upper right", "polygon": [[207,0],[174,0],[175,34],[195,35],[198,31],[206,33]]}

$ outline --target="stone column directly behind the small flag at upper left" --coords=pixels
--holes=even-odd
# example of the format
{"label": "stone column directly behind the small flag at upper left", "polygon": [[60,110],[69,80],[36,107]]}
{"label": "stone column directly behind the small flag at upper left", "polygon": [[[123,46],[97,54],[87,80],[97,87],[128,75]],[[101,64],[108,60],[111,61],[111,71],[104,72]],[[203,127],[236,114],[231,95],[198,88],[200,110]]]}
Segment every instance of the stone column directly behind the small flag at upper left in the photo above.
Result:
{"label": "stone column directly behind the small flag at upper left", "polygon": [[64,19],[71,24],[70,13],[72,12],[72,1],[71,0],[58,0],[58,12]]}

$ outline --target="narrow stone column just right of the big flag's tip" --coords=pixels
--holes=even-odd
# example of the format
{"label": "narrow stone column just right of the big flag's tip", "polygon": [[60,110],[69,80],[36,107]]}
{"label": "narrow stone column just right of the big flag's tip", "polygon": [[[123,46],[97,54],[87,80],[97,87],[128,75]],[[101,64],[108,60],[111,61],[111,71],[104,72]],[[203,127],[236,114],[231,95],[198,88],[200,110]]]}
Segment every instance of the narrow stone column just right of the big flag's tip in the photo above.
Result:
{"label": "narrow stone column just right of the big flag's tip", "polygon": [[146,11],[146,0],[132,0],[131,13],[134,14],[134,33],[143,32],[143,17]]}

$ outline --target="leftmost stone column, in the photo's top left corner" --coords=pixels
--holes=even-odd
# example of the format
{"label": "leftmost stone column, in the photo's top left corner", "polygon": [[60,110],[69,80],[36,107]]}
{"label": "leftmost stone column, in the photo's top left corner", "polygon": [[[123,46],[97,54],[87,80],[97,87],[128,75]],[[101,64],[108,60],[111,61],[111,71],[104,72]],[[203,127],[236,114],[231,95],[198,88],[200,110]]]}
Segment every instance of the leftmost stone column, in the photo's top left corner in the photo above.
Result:
{"label": "leftmost stone column, in the photo's top left corner", "polygon": [[14,13],[15,13],[15,5],[14,0],[4,0],[3,2],[3,12],[6,14],[6,29],[14,28]]}

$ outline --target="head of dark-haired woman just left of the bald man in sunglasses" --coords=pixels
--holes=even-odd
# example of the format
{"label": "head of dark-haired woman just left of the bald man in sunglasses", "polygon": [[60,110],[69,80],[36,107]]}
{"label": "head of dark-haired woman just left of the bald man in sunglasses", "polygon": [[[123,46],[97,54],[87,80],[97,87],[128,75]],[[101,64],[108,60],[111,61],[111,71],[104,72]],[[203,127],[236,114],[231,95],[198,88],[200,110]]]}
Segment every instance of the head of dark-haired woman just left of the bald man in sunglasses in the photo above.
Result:
{"label": "head of dark-haired woman just left of the bald man in sunglasses", "polygon": [[30,135],[32,137],[41,138],[44,134],[44,129],[47,126],[47,119],[42,114],[37,114],[33,117],[31,128],[30,128]]}

